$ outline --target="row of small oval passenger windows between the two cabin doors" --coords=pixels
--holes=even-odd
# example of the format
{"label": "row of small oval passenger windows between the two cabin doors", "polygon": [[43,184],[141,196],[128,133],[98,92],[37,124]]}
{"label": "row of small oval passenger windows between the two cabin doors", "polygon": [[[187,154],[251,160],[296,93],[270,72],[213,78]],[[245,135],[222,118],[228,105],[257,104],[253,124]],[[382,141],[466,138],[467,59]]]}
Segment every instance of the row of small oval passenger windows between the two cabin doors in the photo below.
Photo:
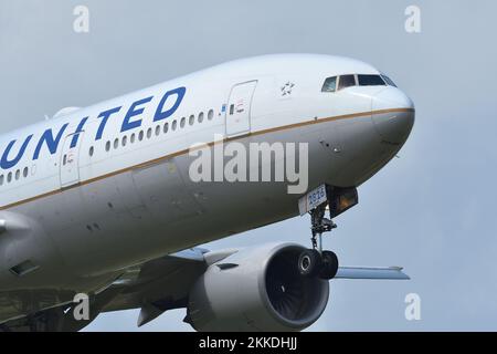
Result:
{"label": "row of small oval passenger windows between the two cabin doors", "polygon": [[[214,110],[210,110],[207,114],[207,119],[212,121],[213,117],[214,117]],[[195,117],[195,115],[192,114],[188,117],[188,124],[193,125],[195,122],[202,123],[204,121],[204,118],[205,118],[205,115],[203,112],[200,112],[197,115],[197,117]],[[150,127],[146,132],[140,131],[139,133],[133,133],[131,135],[129,135],[129,144],[134,144],[136,140],[141,142],[145,138],[145,136],[147,136],[147,138],[149,139],[149,138],[151,138],[152,134],[155,134],[156,136],[159,136],[160,133],[167,134],[169,131],[173,132],[173,131],[178,129],[178,126],[180,128],[183,128],[186,125],[187,125],[187,117],[182,117],[181,119],[173,119],[171,123],[166,122],[162,125],[156,125],[156,127],[154,129]],[[114,142],[107,140],[105,143],[105,150],[109,152],[110,147],[114,147],[114,149],[118,148],[119,143],[120,143],[120,146],[123,146],[123,147],[128,145],[128,136],[125,135],[120,139],[116,137],[114,139]],[[91,146],[89,150],[88,150],[88,155],[93,156],[94,153],[95,153],[95,148],[93,146]]]}

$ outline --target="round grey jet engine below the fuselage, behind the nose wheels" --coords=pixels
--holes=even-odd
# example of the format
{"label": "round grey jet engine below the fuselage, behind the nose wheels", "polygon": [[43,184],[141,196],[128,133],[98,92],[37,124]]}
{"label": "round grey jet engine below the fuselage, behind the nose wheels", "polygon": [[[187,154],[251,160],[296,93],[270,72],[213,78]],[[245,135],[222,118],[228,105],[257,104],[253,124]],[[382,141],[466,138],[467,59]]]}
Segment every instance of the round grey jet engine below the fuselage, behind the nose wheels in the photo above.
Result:
{"label": "round grey jet engine below the fuselage, behind the nose wheels", "polygon": [[297,270],[304,247],[294,243],[243,249],[213,262],[189,295],[197,331],[302,331],[319,319],[328,281]]}

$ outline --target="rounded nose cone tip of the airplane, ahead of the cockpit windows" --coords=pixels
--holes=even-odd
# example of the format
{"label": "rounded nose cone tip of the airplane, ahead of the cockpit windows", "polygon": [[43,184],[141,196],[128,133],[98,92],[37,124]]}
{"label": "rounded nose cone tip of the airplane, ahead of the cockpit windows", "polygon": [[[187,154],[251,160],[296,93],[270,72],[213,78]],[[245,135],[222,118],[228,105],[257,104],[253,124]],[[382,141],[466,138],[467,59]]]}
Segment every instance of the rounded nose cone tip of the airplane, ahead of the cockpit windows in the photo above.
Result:
{"label": "rounded nose cone tip of the airplane, ahead of the cockpit windows", "polygon": [[383,140],[402,144],[414,125],[414,104],[396,87],[385,87],[372,97],[372,119]]}

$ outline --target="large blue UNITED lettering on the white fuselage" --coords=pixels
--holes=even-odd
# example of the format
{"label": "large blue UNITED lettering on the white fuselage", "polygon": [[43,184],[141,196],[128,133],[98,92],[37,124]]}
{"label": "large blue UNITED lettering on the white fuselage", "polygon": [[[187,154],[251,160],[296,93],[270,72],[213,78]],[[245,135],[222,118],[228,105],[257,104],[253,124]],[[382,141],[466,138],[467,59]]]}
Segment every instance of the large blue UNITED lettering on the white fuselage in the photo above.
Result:
{"label": "large blue UNITED lettering on the white fuselage", "polygon": [[[184,93],[187,92],[187,88],[183,86],[170,90],[163,94],[161,97],[159,104],[157,105],[154,114],[154,122],[159,122],[162,119],[166,119],[170,117],[180,106]],[[138,101],[135,101],[131,103],[129,107],[127,107],[126,114],[123,117],[123,123],[120,126],[120,133],[131,131],[139,128],[142,124],[142,118],[140,115],[144,113],[146,105],[152,101],[154,96],[148,96]],[[104,112],[101,112],[97,115],[97,118],[99,119],[98,129],[95,134],[94,139],[99,140],[102,139],[102,136],[104,135],[105,127],[107,125],[108,119],[114,116],[115,114],[119,112],[124,112],[124,106],[117,106],[109,110],[106,110]],[[72,133],[73,137],[71,140],[71,147],[75,147],[77,145],[77,140],[80,138],[80,133],[83,132],[86,122],[89,117],[83,117],[80,121],[80,124],[76,126],[76,129]],[[62,125],[57,132],[54,132],[52,128],[47,128],[42,133],[42,135],[38,138],[38,140],[34,137],[34,134],[28,135],[24,140],[21,143],[18,143],[18,139],[11,140],[7,147],[4,148],[1,159],[0,159],[0,168],[1,169],[9,169],[14,167],[24,155],[27,148],[30,145],[35,144],[34,153],[32,156],[32,160],[36,160],[40,158],[40,155],[42,154],[43,147],[46,146],[46,149],[51,155],[55,154],[59,147],[59,144],[61,143],[62,137],[64,136],[64,133],[66,133],[66,128],[68,126],[68,123],[65,123]],[[65,134],[67,135],[67,134]],[[20,147],[19,147],[20,145]],[[18,153],[15,154],[13,150],[15,150],[14,147],[18,147]]]}

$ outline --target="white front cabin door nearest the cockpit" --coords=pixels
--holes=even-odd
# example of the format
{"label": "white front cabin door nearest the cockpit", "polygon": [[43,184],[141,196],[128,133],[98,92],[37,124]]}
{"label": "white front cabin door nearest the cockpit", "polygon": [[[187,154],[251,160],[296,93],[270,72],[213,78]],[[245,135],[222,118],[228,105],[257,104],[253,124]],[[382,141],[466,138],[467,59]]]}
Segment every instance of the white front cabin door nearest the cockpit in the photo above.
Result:
{"label": "white front cabin door nearest the cockpit", "polygon": [[251,105],[257,81],[233,86],[225,111],[226,137],[250,133]]}

